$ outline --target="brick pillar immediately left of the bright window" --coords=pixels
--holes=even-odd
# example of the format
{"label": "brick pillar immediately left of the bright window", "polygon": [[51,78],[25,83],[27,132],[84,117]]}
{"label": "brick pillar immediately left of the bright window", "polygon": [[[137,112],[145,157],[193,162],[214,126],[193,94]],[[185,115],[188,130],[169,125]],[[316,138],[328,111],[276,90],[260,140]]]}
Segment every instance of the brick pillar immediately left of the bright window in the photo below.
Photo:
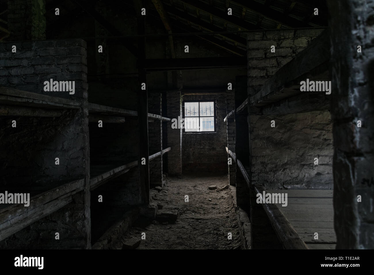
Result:
{"label": "brick pillar immediately left of the bright window", "polygon": [[[177,119],[182,116],[182,97],[180,91],[171,91],[166,95],[168,117]],[[182,174],[182,129],[172,129],[172,122],[168,121],[168,171],[171,175]]]}

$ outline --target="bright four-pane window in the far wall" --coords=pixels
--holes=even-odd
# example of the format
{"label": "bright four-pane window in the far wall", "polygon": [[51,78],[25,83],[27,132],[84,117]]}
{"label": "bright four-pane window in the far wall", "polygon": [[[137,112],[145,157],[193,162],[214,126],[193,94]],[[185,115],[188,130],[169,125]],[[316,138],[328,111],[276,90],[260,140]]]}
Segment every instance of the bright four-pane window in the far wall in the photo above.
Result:
{"label": "bright four-pane window in the far wall", "polygon": [[215,101],[183,101],[184,132],[215,132]]}

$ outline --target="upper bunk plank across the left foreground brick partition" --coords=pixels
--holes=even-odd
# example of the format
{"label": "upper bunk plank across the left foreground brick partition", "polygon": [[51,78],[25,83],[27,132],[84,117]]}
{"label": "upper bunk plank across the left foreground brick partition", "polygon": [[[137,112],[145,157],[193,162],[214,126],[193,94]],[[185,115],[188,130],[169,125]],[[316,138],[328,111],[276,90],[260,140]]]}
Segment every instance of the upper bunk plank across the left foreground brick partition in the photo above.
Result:
{"label": "upper bunk plank across the left foreground brick partition", "polygon": [[70,106],[80,106],[79,101],[69,100],[69,99],[61,98],[61,97],[51,97],[50,95],[42,95],[42,94],[37,94],[37,93],[32,93],[32,92],[21,91],[21,90],[9,88],[9,87],[0,87],[0,94],[8,95],[10,97],[21,97],[21,98],[29,98],[33,100],[40,100],[50,105],[60,103],[60,104],[66,104]]}

